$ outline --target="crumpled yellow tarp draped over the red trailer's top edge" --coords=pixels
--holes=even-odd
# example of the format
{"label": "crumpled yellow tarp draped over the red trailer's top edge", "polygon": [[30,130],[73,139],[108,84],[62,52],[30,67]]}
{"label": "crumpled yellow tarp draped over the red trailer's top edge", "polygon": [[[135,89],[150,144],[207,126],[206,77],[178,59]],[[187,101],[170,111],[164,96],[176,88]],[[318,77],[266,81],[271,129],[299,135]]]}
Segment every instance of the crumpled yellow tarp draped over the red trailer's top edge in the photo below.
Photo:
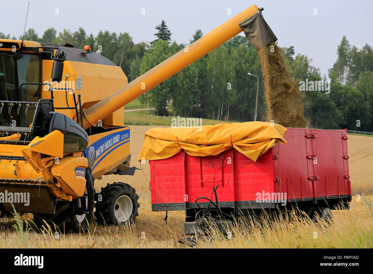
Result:
{"label": "crumpled yellow tarp draped over the red trailer's top edge", "polygon": [[[267,122],[245,122],[200,128],[155,127],[145,133],[141,160],[169,158],[182,149],[193,156],[214,156],[230,148],[256,161],[278,141],[285,144],[286,128]],[[231,137],[232,136],[232,137]]]}

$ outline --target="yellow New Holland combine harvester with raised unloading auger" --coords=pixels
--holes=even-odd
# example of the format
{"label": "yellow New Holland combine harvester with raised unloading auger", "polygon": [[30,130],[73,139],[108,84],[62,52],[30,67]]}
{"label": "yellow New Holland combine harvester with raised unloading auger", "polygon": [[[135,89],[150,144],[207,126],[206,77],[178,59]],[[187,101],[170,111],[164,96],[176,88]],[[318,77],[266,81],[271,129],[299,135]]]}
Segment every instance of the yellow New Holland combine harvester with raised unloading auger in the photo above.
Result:
{"label": "yellow New Holland combine harvester with raised unloading auger", "polygon": [[91,45],[0,40],[0,215],[13,204],[65,233],[86,232],[94,208],[100,224],[134,221],[134,188],[94,190],[102,175],[135,172],[123,106],[242,30],[257,49],[276,41],[262,10],[249,7],[129,84]]}

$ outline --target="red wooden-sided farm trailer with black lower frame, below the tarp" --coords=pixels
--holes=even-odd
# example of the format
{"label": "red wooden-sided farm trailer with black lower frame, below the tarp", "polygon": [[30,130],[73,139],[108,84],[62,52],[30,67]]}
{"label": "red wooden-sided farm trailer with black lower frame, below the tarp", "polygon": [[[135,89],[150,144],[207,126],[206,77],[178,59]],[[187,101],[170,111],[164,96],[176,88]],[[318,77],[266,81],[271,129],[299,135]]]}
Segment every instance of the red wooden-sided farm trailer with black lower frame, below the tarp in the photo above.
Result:
{"label": "red wooden-sided farm trailer with black lower frame, below the tarp", "polygon": [[185,210],[185,233],[191,234],[196,212],[210,203],[199,200],[198,206],[196,199],[214,202],[212,189],[217,185],[219,207],[232,216],[289,208],[295,202],[309,215],[328,215],[341,203],[348,207],[346,132],[288,128],[284,137],[287,144],[276,142],[255,162],[233,148],[214,157],[182,151],[149,161],[152,210]]}

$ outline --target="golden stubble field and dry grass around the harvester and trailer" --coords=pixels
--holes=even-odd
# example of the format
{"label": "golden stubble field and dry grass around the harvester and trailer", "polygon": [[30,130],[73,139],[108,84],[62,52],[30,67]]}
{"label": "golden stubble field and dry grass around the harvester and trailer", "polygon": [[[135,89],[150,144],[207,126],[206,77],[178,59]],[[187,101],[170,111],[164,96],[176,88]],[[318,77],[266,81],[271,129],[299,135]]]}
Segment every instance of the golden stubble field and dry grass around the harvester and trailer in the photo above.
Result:
{"label": "golden stubble field and dry grass around the harvester and trailer", "polygon": [[[132,165],[140,152],[144,133],[152,126],[131,126]],[[370,177],[373,175],[373,138],[348,135],[349,163],[352,193],[372,193]],[[145,176],[150,178],[149,164],[142,166]],[[102,227],[95,222],[86,234],[60,235],[22,232],[13,227],[16,218],[0,220],[0,248],[187,248],[175,243],[183,235],[184,211],[170,211],[167,224],[165,212],[151,211],[149,182],[141,171],[134,176],[104,176],[95,181],[95,188],[112,182],[132,185],[140,196],[139,216],[135,226]],[[361,201],[353,197],[350,210],[332,211],[332,226],[318,225],[298,219],[289,222],[281,219],[264,222],[254,229],[234,229],[232,238],[225,239],[214,234],[211,242],[198,242],[201,248],[372,248],[373,247],[373,195],[363,195]],[[292,216],[292,215],[291,215]],[[32,214],[21,217],[32,220]],[[314,238],[317,232],[317,239]],[[145,236],[145,237],[142,237]]]}

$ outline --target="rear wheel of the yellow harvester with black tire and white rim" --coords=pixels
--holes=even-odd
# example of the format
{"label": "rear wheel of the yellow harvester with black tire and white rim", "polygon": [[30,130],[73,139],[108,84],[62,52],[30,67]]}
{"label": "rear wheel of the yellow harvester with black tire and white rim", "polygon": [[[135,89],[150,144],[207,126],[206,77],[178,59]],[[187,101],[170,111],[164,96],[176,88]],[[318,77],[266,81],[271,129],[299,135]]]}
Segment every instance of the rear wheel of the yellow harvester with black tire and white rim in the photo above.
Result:
{"label": "rear wheel of the yellow harvester with black tire and white rim", "polygon": [[132,223],[139,215],[137,212],[140,207],[139,196],[132,186],[120,182],[108,183],[105,188],[101,188],[100,195],[94,213],[99,224]]}

